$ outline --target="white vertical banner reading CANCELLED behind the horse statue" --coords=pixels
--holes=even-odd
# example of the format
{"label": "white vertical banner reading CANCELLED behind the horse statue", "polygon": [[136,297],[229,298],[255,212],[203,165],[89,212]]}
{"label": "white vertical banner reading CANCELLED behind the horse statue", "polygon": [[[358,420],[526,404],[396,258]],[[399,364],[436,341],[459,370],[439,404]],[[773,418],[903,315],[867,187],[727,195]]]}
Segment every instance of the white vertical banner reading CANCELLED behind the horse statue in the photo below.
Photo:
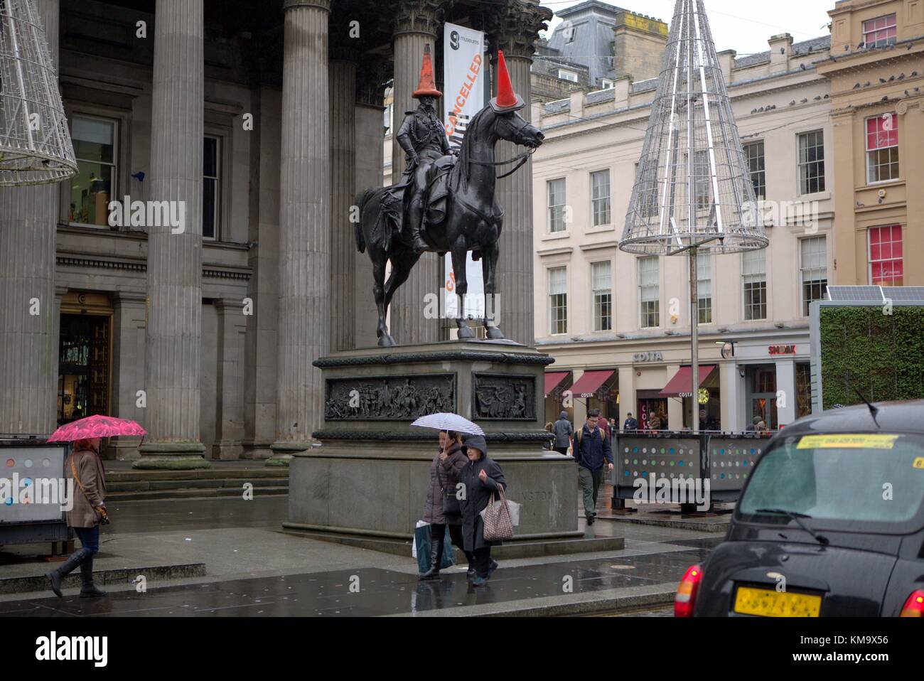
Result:
{"label": "white vertical banner reading CANCELLED behind the horse statue", "polygon": [[[443,73],[444,73],[444,124],[449,146],[462,146],[468,121],[484,106],[484,32],[456,24],[445,24],[443,30]],[[444,264],[444,304],[446,317],[456,318],[456,275],[449,253]],[[484,283],[481,279],[481,262],[466,259],[468,294],[465,300],[465,316],[469,319],[484,317]]]}

